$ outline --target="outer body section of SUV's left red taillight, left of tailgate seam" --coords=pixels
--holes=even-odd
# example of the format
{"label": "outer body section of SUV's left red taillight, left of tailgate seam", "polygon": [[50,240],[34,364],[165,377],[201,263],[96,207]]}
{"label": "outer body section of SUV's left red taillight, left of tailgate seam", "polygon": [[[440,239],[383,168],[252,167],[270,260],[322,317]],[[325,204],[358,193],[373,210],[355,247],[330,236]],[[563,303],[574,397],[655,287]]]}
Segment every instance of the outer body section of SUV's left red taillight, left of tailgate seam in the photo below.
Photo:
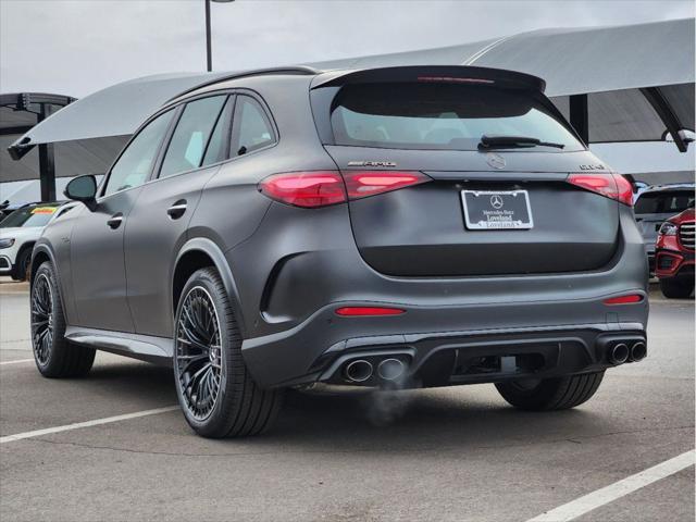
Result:
{"label": "outer body section of SUV's left red taillight, left of tailgate seam", "polygon": [[259,183],[261,194],[295,207],[312,209],[346,201],[346,187],[338,172],[289,172]]}

